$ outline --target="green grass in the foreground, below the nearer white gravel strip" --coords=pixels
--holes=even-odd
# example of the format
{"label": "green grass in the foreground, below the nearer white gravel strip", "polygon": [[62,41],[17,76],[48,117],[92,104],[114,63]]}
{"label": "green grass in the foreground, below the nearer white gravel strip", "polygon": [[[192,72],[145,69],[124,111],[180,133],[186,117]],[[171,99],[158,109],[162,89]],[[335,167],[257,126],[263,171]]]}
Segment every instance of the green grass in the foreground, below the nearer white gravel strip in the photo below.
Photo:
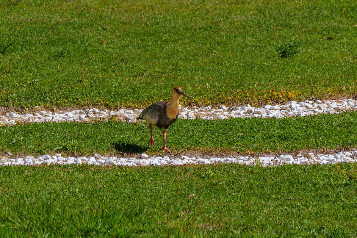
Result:
{"label": "green grass in the foreground, below the nearer white gravel strip", "polygon": [[0,169],[1,237],[355,237],[357,165]]}

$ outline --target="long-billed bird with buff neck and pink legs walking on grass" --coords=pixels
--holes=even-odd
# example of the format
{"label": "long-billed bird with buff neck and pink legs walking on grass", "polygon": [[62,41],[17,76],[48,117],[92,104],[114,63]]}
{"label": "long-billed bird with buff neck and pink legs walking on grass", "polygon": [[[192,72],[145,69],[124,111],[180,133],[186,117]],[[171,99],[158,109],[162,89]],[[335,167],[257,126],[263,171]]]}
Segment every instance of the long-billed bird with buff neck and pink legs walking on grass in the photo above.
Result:
{"label": "long-billed bird with buff neck and pink legs walking on grass", "polygon": [[147,146],[149,146],[151,143],[151,147],[154,147],[154,137],[152,136],[152,125],[155,125],[159,128],[164,127],[164,132],[162,133],[162,137],[164,139],[164,147],[162,147],[161,150],[163,152],[165,151],[170,152],[170,149],[166,148],[166,140],[165,140],[166,131],[167,128],[169,128],[169,126],[172,123],[174,123],[178,118],[178,105],[181,95],[190,99],[192,104],[195,105],[195,103],[193,103],[191,98],[182,92],[182,89],[180,87],[174,87],[174,89],[172,90],[170,102],[164,101],[164,102],[153,103],[148,108],[142,110],[139,117],[136,118],[136,119],[144,119],[145,121],[149,122],[151,138],[149,140],[149,143],[147,143]]}

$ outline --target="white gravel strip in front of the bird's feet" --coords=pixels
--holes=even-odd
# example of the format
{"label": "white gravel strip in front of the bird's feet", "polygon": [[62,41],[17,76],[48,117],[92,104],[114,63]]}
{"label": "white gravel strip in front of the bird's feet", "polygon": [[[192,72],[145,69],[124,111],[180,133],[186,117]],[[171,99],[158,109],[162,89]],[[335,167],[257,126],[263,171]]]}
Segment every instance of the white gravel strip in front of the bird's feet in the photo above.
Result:
{"label": "white gravel strip in front of the bird's feet", "polygon": [[185,165],[185,164],[217,164],[217,163],[239,163],[247,166],[279,166],[283,164],[333,164],[333,163],[355,163],[357,162],[357,151],[352,152],[340,152],[335,155],[314,155],[308,153],[307,155],[297,155],[295,157],[291,155],[280,155],[270,157],[212,157],[212,158],[200,158],[200,157],[188,157],[182,155],[180,158],[164,157],[150,157],[146,154],[141,154],[140,158],[118,158],[102,157],[99,154],[95,154],[91,157],[67,157],[64,158],[61,154],[53,156],[43,155],[41,157],[26,156],[25,158],[6,158],[0,159],[1,166],[14,166],[14,165],[50,165],[50,164],[93,164],[98,166],[164,166],[164,165]]}

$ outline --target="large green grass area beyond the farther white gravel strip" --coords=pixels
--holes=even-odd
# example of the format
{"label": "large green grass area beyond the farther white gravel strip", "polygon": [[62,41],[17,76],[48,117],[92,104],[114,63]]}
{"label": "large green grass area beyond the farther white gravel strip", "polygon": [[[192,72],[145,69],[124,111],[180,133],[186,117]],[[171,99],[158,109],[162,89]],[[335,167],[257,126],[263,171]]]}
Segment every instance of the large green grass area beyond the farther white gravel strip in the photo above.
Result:
{"label": "large green grass area beyond the farther white gravel strip", "polygon": [[197,105],[356,91],[348,0],[3,0],[0,22],[5,107],[142,108],[174,86]]}

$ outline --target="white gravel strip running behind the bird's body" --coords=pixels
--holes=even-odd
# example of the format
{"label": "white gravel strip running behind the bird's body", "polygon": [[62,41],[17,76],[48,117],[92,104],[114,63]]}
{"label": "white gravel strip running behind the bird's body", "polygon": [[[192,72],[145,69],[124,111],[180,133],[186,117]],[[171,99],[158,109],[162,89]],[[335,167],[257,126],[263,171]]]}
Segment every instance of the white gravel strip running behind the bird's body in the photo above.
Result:
{"label": "white gravel strip running behind the bird's body", "polygon": [[[220,108],[212,108],[210,106],[201,108],[187,107],[179,110],[179,117],[186,119],[201,118],[206,120],[226,119],[226,118],[284,118],[293,116],[310,116],[320,113],[340,113],[348,110],[357,110],[357,101],[353,99],[343,99],[341,101],[330,100],[322,102],[291,101],[286,105],[264,105],[263,107],[251,107],[250,105],[243,107],[226,107],[222,105]],[[119,111],[102,111],[91,108],[85,110],[73,110],[68,112],[51,112],[40,111],[36,113],[17,113],[8,112],[0,114],[0,125],[17,125],[18,123],[32,122],[94,122],[116,120],[135,122],[140,115],[140,109],[127,110],[120,109]],[[112,118],[112,119],[111,119]]]}

